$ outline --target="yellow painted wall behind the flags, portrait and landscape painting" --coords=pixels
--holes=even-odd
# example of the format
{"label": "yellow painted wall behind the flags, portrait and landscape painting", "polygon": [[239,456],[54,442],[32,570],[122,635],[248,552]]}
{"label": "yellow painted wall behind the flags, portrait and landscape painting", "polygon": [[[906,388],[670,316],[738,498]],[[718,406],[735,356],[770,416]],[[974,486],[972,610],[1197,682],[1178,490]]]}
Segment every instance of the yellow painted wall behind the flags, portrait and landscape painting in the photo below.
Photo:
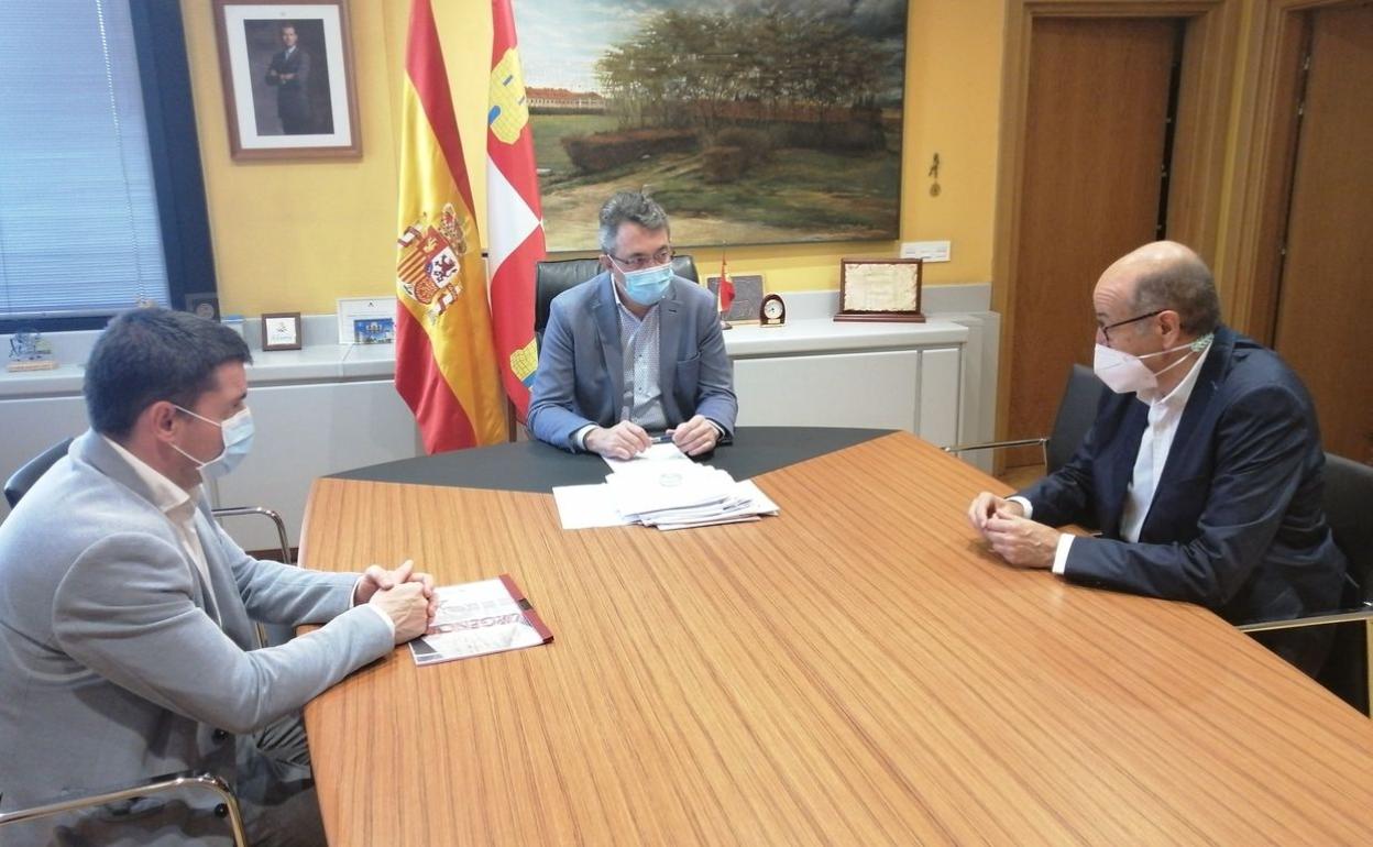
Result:
{"label": "yellow painted wall behind the flags, portrait and landscape painting", "polygon": [[[925,268],[928,283],[991,279],[1002,7],[910,0],[901,237],[953,242],[953,261]],[[181,10],[224,312],[323,313],[339,297],[390,292],[409,1],[349,3],[362,135],[362,158],[350,162],[233,162],[211,4],[181,0]],[[434,0],[434,10],[481,209],[490,4]],[[942,191],[932,198],[925,172],[936,151]],[[840,257],[897,250],[895,242],[735,247],[729,266],[763,273],[778,291],[833,288]],[[718,250],[692,253],[704,268],[719,261]]]}

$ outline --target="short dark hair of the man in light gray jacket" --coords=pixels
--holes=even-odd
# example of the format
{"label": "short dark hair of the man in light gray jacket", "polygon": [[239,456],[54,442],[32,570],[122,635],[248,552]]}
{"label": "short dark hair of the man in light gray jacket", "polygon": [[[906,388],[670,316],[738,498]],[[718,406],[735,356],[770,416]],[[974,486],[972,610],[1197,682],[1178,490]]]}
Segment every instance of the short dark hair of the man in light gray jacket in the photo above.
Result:
{"label": "short dark hair of the man in light gray jacket", "polygon": [[249,346],[224,324],[155,308],[118,314],[86,362],[91,427],[122,438],[143,409],[162,399],[189,409],[216,388],[220,365],[250,361]]}

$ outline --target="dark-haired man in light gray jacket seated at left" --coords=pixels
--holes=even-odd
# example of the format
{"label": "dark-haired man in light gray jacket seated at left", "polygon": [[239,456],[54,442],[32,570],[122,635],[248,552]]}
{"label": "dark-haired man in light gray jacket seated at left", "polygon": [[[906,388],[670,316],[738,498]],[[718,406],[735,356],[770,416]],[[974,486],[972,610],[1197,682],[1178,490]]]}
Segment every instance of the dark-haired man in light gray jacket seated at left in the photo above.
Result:
{"label": "dark-haired man in light gray jacket seated at left", "polygon": [[[195,769],[225,777],[257,844],[323,843],[301,707],[424,631],[432,581],[247,556],[202,474],[253,437],[232,329],[139,309],[86,367],[91,431],[0,524],[0,811]],[[253,620],[323,623],[254,649]],[[214,800],[141,799],[0,833],[5,844],[184,844]]]}

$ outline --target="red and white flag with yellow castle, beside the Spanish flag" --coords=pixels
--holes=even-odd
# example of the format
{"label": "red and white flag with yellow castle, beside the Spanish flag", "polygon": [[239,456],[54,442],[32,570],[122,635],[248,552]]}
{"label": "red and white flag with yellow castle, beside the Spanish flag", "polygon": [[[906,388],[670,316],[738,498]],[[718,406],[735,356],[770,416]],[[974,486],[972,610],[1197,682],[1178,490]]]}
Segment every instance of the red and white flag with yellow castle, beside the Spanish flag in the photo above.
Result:
{"label": "red and white flag with yellow castle, beside the Spanish flag", "polygon": [[505,394],[524,420],[534,382],[534,262],[544,258],[544,216],[534,137],[509,0],[492,0],[492,76],[486,113],[486,228],[496,360]]}

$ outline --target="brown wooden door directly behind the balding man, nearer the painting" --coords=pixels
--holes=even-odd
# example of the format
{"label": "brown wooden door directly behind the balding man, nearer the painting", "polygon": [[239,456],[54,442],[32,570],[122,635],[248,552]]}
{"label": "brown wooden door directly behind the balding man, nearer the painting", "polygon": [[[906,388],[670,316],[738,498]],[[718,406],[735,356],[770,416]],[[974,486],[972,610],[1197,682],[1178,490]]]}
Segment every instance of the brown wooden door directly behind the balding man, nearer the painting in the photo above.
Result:
{"label": "brown wooden door directly behind the balding man, nearer the painting", "polygon": [[[1177,18],[1037,18],[1011,318],[1008,438],[1048,434],[1072,362],[1092,362],[1092,288],[1162,236]],[[1034,464],[1034,450],[1008,465]]]}

